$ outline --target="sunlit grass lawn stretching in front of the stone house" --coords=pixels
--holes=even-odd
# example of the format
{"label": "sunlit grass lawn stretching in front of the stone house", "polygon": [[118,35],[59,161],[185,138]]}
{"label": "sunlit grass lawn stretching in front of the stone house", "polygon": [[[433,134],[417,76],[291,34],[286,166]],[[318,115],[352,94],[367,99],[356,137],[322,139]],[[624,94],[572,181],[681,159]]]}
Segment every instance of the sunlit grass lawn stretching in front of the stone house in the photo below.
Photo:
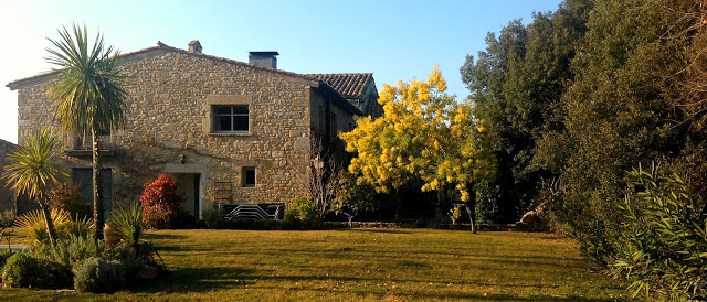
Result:
{"label": "sunlit grass lawn stretching in front of the stone house", "polygon": [[432,229],[160,230],[177,270],[114,295],[3,289],[4,301],[614,300],[621,284],[546,234]]}

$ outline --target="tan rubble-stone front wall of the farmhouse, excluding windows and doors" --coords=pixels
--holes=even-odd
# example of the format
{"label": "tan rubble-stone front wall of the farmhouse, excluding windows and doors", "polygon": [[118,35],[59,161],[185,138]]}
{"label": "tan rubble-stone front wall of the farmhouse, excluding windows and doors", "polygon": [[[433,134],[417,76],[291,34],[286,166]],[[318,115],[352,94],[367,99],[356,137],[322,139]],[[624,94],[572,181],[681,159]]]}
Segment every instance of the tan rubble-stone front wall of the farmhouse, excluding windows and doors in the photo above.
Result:
{"label": "tan rubble-stone front wall of the farmhouse, excluding windows and doors", "polygon": [[[136,201],[143,184],[165,172],[199,173],[202,209],[226,202],[224,183],[230,183],[231,203],[287,203],[308,194],[316,83],[165,48],[128,55],[124,63],[127,121],[112,133],[113,151],[105,157],[105,166],[113,169],[114,203]],[[20,140],[40,125],[59,126],[46,80],[18,89]],[[249,105],[250,131],[213,133],[212,106],[231,104]],[[74,166],[88,164],[75,161]],[[244,166],[255,166],[255,187],[242,186]]]}

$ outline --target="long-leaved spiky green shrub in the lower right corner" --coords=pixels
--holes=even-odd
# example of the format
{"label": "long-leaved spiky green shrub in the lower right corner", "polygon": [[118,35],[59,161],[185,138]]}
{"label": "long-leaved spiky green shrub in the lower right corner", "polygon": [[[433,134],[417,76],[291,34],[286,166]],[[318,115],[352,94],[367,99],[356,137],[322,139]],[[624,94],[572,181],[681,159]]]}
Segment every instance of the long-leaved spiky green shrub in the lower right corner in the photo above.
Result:
{"label": "long-leaved spiky green shrub in the lower right corner", "polygon": [[631,281],[634,296],[707,299],[707,214],[677,175],[653,168],[629,173],[633,192],[621,206],[622,236],[613,273]]}

